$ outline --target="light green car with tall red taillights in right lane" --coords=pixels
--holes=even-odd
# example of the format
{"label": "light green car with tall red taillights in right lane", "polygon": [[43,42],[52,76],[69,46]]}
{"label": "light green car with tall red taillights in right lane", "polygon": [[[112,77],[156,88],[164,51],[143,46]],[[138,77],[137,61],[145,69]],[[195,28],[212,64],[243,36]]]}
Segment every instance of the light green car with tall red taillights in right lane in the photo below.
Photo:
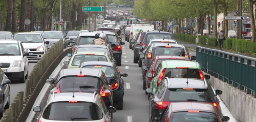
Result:
{"label": "light green car with tall red taillights in right lane", "polygon": [[148,78],[153,78],[150,87],[152,87],[152,94],[155,93],[157,86],[165,78],[196,78],[196,79],[210,79],[209,75],[204,75],[199,63],[191,62],[189,60],[163,60],[155,75],[147,73]]}

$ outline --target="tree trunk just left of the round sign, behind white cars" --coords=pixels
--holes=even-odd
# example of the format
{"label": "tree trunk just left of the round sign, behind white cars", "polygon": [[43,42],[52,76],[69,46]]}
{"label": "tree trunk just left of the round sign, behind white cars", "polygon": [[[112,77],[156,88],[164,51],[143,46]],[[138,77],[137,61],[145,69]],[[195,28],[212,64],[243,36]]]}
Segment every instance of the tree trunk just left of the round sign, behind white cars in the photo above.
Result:
{"label": "tree trunk just left of the round sign, behind white cars", "polygon": [[20,13],[19,13],[19,32],[24,32],[25,28],[25,10],[26,10],[26,0],[20,0]]}

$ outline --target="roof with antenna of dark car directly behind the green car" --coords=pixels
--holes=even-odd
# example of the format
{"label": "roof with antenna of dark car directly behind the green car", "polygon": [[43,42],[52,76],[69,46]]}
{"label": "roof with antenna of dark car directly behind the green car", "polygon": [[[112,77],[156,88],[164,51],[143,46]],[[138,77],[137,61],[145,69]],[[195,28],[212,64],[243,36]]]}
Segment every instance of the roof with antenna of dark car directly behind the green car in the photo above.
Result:
{"label": "roof with antenna of dark car directly behind the green car", "polygon": [[208,88],[204,79],[168,78],[167,80],[169,80],[167,88],[198,88],[198,89]]}

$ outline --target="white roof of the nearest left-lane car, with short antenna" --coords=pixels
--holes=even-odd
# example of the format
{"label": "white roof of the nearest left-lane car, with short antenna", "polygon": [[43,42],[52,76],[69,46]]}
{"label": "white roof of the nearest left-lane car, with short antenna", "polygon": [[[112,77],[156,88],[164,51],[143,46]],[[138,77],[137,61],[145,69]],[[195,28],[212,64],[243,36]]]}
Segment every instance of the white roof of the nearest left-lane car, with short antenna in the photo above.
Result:
{"label": "white roof of the nearest left-lane car, with short antenna", "polygon": [[[74,97],[73,97],[74,96]],[[97,98],[97,97],[96,97]],[[83,101],[83,102],[92,102],[96,103],[97,100],[94,100],[94,93],[58,93],[52,94],[51,100],[48,104],[53,102],[60,102],[60,101]]]}

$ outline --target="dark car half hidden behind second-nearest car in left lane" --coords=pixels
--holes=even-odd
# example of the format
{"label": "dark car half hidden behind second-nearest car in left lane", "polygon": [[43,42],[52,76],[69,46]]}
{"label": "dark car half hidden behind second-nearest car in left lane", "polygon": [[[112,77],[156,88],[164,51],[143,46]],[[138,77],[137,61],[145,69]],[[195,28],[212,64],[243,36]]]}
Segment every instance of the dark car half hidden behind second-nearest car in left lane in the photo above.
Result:
{"label": "dark car half hidden behind second-nearest car in left lane", "polygon": [[127,77],[126,73],[121,74],[115,63],[111,62],[84,62],[80,68],[102,70],[109,84],[112,86],[114,106],[116,105],[117,109],[123,109],[124,88],[122,77]]}

